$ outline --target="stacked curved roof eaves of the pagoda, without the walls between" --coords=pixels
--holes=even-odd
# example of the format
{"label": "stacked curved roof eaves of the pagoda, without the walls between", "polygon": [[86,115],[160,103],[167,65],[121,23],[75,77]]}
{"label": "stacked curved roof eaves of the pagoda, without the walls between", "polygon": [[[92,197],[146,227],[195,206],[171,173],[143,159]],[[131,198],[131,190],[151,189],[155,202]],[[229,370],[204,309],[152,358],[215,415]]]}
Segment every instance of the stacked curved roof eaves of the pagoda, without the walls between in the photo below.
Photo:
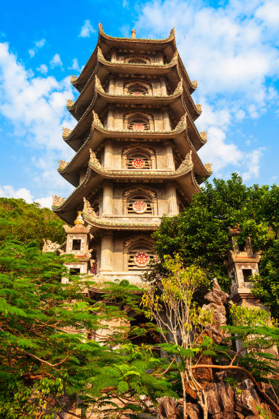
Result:
{"label": "stacked curved roof eaves of the pagoda, without the walls between", "polygon": [[[111,49],[122,51],[161,51],[168,62],[165,64],[134,64],[126,62],[111,62],[105,56]],[[137,75],[164,75],[172,86],[171,94],[161,96],[146,95],[120,95],[105,92],[103,84],[110,73]],[[149,40],[138,38],[114,38],[108,36],[99,24],[98,43],[87,64],[85,64],[79,77],[71,78],[72,85],[80,92],[75,102],[68,101],[67,109],[77,119],[74,129],[64,129],[63,138],[67,144],[77,153],[68,163],[61,161],[59,173],[76,189],[68,196],[68,199],[57,197],[53,204],[53,210],[59,216],[72,224],[80,207],[83,197],[98,188],[103,179],[130,179],[139,177],[148,181],[176,180],[179,188],[185,196],[191,199],[191,195],[198,192],[198,184],[204,178],[211,175],[211,167],[204,166],[198,157],[198,149],[206,142],[206,133],[198,133],[194,120],[201,113],[201,106],[196,105],[191,98],[191,93],[197,87],[196,81],[190,81],[183,62],[178,55],[175,44],[174,29],[170,36],[164,40]],[[167,105],[174,115],[173,126],[170,131],[131,131],[113,130],[103,127],[98,115],[105,112],[107,106],[112,103],[122,105]],[[185,157],[185,161],[177,170],[107,170],[96,159],[92,150],[101,147],[107,138],[128,140],[140,138],[143,141],[153,142],[168,140],[174,144],[177,153]],[[94,155],[92,157],[92,155]],[[91,157],[90,157],[91,156]],[[79,185],[79,172],[88,162],[87,173]],[[84,214],[83,214],[84,215]],[[96,228],[130,228],[154,229],[159,225],[159,220],[144,221],[133,220],[120,222],[119,217],[114,220],[98,218],[95,214],[85,218]],[[126,224],[125,224],[126,223]]]}

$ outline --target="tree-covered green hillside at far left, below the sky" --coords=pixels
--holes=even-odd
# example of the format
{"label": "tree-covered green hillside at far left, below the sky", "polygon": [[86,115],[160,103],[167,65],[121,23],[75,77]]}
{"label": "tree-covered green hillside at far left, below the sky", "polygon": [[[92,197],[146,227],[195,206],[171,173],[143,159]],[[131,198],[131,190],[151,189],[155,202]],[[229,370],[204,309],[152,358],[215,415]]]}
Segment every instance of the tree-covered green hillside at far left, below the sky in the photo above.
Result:
{"label": "tree-covered green hillside at far left, below the sky", "polygon": [[65,240],[64,223],[48,208],[27,204],[23,199],[0,198],[0,243],[8,236],[23,243],[43,240],[62,243]]}

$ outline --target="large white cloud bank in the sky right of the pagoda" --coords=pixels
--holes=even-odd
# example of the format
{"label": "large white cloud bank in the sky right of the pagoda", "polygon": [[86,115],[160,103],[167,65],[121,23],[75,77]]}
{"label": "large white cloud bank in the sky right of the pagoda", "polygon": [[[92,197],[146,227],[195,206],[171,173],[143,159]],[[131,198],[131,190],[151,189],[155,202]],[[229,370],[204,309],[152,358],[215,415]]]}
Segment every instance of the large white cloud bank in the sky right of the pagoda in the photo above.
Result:
{"label": "large white cloud bank in the sky right of the pagoda", "polygon": [[270,86],[279,74],[274,30],[276,25],[279,29],[278,8],[278,1],[271,0],[229,0],[216,8],[201,0],[142,3],[135,25],[138,36],[165,38],[168,16],[187,72],[198,79],[193,98],[202,103],[202,115],[196,125],[208,131],[200,155],[213,162],[215,175],[226,166],[247,166],[245,179],[258,175],[263,149],[247,157],[245,142],[237,145],[227,137],[239,140],[235,127],[241,120],[259,118],[271,105],[278,107],[278,92]]}

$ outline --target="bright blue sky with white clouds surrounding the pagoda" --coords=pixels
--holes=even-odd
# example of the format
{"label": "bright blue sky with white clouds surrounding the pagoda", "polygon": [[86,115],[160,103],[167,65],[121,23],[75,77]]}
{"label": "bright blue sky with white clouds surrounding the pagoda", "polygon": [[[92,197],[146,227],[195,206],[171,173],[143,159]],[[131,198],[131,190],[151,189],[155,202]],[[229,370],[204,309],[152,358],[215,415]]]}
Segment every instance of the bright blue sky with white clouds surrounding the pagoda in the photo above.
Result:
{"label": "bright blue sky with white clouds surrounding the pagoda", "polygon": [[66,100],[94,50],[98,21],[113,36],[166,38],[176,45],[208,142],[213,175],[239,172],[245,183],[278,183],[279,1],[12,1],[0,16],[0,196],[51,205],[72,187],[57,174],[70,160],[62,127],[74,127]]}

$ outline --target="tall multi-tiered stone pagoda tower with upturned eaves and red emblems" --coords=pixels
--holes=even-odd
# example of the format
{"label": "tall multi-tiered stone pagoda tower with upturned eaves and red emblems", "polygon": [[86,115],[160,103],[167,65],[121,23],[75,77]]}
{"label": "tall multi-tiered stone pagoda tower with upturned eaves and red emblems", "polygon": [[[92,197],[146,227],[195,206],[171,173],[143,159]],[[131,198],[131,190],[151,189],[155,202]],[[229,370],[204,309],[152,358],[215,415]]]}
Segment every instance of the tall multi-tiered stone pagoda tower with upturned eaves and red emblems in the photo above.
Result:
{"label": "tall multi-tiered stone pagoda tower with upturned eaves and red emblems", "polygon": [[[59,173],[73,186],[67,199],[54,196],[53,210],[66,227],[66,253],[77,272],[139,281],[152,253],[150,234],[163,214],[178,214],[211,175],[198,149],[200,116],[178,55],[174,29],[164,40],[114,38],[99,25],[98,44],[68,101],[75,129],[63,138],[76,151]],[[77,218],[77,212],[82,216]]]}

